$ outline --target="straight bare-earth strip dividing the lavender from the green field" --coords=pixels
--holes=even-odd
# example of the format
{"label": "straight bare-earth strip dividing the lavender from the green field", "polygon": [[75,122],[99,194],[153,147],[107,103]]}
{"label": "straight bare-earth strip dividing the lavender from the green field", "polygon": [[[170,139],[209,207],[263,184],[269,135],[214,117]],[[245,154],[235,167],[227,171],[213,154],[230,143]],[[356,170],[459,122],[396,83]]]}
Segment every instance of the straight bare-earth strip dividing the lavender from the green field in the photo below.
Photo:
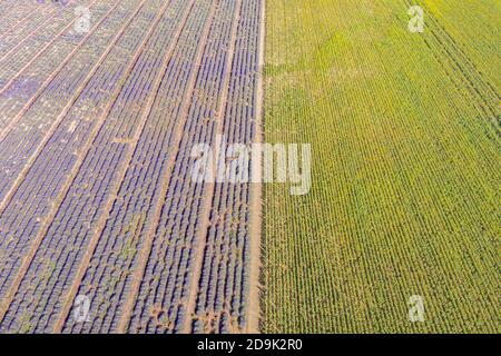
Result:
{"label": "straight bare-earth strip dividing the lavender from the green field", "polygon": [[[258,46],[258,72],[257,72],[257,88],[256,88],[256,135],[255,144],[264,141],[263,118],[265,113],[264,108],[264,68],[265,68],[265,44],[266,44],[266,0],[262,0],[261,6],[261,21],[259,21],[259,46]],[[256,168],[256,176],[262,177],[262,166],[252,165]],[[254,172],[253,172],[254,176]],[[261,313],[262,313],[262,297],[261,297],[261,280],[262,280],[262,234],[263,234],[263,184],[253,181],[250,184],[250,233],[249,233],[249,249],[250,249],[250,265],[249,265],[249,297],[248,297],[248,323],[247,333],[259,333]]]}

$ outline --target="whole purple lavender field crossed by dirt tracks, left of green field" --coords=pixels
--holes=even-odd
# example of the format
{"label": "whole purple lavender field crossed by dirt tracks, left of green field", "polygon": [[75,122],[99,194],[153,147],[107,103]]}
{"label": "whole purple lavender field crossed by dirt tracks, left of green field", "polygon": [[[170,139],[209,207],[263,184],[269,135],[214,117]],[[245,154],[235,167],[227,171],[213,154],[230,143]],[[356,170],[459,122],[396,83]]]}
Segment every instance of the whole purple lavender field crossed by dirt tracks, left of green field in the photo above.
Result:
{"label": "whole purple lavender field crossed by dirt tracks, left of green field", "polygon": [[258,140],[262,29],[258,0],[0,1],[0,332],[257,330],[258,190],[189,169]]}

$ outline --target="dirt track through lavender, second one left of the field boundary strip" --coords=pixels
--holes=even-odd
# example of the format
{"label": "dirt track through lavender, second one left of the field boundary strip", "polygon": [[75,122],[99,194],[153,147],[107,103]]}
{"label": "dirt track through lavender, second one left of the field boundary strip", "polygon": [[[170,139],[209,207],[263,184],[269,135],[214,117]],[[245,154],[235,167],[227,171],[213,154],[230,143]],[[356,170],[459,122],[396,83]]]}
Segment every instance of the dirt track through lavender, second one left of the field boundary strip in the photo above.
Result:
{"label": "dirt track through lavender, second one left of the field boundary strip", "polygon": [[[193,66],[193,69],[191,69],[190,76],[189,76],[189,80],[188,80],[188,85],[187,85],[187,92],[184,96],[184,102],[179,110],[180,115],[178,115],[176,117],[176,118],[179,118],[179,120],[183,122],[178,122],[178,125],[176,126],[175,132],[173,135],[176,144],[174,145],[174,151],[170,155],[167,167],[171,167],[174,165],[174,162],[176,161],[177,152],[179,151],[180,141],[183,139],[183,134],[185,130],[187,117],[189,115],[188,110],[189,110],[189,107],[191,103],[191,99],[193,99],[193,95],[194,95],[194,90],[195,90],[195,86],[196,86],[196,80],[197,80],[198,72],[202,67],[203,56],[204,56],[205,49],[207,47],[209,31],[210,31],[210,28],[212,28],[212,24],[214,21],[216,8],[220,3],[219,0],[217,0],[217,1],[213,0],[212,2],[213,3],[210,6],[210,11],[207,16],[205,28],[202,32],[200,42],[198,44],[194,66]],[[149,227],[146,231],[144,246],[139,251],[137,267],[134,271],[134,277],[131,279],[132,285],[130,287],[129,296],[126,299],[126,303],[124,304],[122,314],[121,314],[121,317],[120,317],[120,320],[119,320],[118,327],[117,327],[117,332],[120,334],[124,334],[127,330],[127,325],[130,322],[130,315],[132,313],[135,301],[139,294],[139,288],[140,288],[141,281],[143,281],[143,276],[145,275],[146,266],[148,264],[148,257],[149,257],[149,254],[151,253],[155,234],[156,234],[158,224],[161,218],[161,211],[163,211],[163,207],[165,204],[166,195],[167,195],[168,188],[170,186],[170,177],[173,175],[173,170],[174,169],[168,170],[168,172],[165,177],[164,184],[161,185],[159,200],[157,201],[157,204],[154,207],[154,216],[153,216],[151,222],[149,224]]]}

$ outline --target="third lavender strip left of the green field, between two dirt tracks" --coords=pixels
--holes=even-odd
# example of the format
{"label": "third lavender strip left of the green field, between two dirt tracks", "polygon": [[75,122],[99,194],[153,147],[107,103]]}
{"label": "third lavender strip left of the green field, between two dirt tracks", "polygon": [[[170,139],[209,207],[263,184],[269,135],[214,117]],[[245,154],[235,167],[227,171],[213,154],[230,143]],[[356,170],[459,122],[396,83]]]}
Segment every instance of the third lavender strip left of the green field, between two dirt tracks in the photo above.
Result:
{"label": "third lavender strip left of the green field, between two dirt tracks", "polygon": [[[110,218],[78,291],[78,295],[90,297],[94,323],[79,325],[68,318],[65,332],[116,330],[118,319],[122,316],[122,306],[129,296],[131,276],[137,267],[141,238],[145,237],[140,233],[148,227],[145,224],[151,219],[151,206],[159,198],[157,191],[164,177],[161,171],[165,172],[168,168],[165,140],[173,132],[179,102],[187,90],[187,77],[193,70],[194,56],[209,6],[209,1],[196,1],[188,17]],[[110,279],[114,283],[108,283]]]}

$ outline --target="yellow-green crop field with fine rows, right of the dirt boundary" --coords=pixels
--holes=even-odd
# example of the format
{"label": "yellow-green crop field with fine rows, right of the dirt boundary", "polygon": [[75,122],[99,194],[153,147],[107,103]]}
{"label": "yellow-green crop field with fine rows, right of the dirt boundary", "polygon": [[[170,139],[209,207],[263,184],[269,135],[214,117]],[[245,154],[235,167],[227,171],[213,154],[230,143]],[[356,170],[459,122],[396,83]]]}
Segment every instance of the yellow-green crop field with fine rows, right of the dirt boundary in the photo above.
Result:
{"label": "yellow-green crop field with fine rows, right of the dirt boundary", "polygon": [[263,332],[501,332],[500,13],[267,0],[265,139],[313,156],[310,194],[264,188]]}

